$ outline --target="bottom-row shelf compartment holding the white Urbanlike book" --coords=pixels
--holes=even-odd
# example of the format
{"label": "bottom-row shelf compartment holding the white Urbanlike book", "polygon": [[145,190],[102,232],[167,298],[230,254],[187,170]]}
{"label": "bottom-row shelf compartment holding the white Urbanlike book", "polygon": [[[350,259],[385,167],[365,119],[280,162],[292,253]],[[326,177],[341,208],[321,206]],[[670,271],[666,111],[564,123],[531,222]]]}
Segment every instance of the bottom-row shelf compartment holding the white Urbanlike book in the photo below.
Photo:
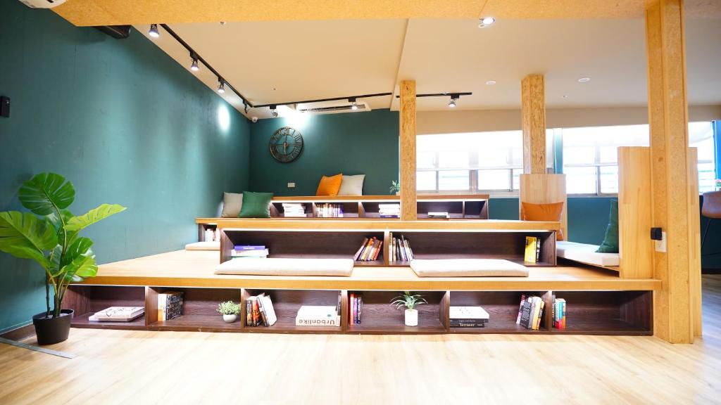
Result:
{"label": "bottom-row shelf compartment holding the white Urbanlike book", "polygon": [[[265,293],[273,301],[273,310],[278,321],[273,326],[247,326],[245,300],[252,295]],[[241,322],[247,332],[277,333],[340,333],[339,326],[296,326],[296,315],[301,306],[336,306],[340,290],[244,290]],[[341,300],[342,301],[342,300]]]}

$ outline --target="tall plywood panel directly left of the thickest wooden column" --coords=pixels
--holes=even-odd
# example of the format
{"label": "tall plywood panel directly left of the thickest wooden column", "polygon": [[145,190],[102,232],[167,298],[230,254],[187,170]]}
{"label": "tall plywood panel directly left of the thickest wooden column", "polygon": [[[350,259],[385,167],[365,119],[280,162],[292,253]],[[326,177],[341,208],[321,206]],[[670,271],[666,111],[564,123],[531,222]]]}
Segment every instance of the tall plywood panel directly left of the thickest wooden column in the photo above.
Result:
{"label": "tall plywood panel directly left of the thickest wooden column", "polygon": [[619,148],[619,275],[645,278],[653,275],[653,241],[650,239],[651,153],[647,147]]}

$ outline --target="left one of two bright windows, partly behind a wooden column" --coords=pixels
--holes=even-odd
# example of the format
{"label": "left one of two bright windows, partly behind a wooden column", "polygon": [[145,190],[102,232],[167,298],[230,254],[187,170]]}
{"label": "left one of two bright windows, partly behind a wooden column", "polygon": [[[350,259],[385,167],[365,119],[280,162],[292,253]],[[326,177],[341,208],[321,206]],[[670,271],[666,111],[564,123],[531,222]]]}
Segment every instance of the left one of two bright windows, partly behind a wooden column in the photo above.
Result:
{"label": "left one of two bright windows, partly behind a wooden column", "polygon": [[[553,130],[547,133],[549,167]],[[512,194],[523,172],[520,130],[419,135],[416,187],[422,192],[492,192]]]}

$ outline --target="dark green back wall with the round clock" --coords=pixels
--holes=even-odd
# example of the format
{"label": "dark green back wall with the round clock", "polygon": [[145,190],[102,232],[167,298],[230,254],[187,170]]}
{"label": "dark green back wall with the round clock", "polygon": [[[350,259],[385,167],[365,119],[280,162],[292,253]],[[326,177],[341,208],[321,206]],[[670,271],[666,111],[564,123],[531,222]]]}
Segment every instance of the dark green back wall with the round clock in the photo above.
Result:
{"label": "dark green back wall with the round clock", "polygon": [[[270,136],[283,126],[303,135],[304,151],[291,163],[276,161],[268,151]],[[271,118],[252,123],[250,134],[252,191],[315,195],[323,175],[342,172],[366,174],[363,194],[387,195],[398,179],[397,111]],[[288,188],[288,182],[296,188]]]}

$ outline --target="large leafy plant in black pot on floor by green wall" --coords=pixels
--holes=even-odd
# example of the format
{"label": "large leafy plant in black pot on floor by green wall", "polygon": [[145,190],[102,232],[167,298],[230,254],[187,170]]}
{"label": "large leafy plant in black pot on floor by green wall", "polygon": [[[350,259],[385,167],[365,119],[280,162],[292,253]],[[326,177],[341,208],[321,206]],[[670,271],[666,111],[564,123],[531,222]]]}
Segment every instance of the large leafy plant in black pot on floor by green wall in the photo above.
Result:
{"label": "large leafy plant in black pot on floor by green wall", "polygon": [[68,339],[73,316],[73,310],[62,309],[68,285],[97,274],[95,254],[90,249],[93,242],[79,236],[79,232],[125,207],[102,204],[75,216],[68,210],[75,200],[75,188],[55,173],[40,173],[27,180],[20,187],[18,199],[30,213],[0,213],[0,252],[32,259],[43,267],[47,309],[32,317],[37,344],[63,342]]}

